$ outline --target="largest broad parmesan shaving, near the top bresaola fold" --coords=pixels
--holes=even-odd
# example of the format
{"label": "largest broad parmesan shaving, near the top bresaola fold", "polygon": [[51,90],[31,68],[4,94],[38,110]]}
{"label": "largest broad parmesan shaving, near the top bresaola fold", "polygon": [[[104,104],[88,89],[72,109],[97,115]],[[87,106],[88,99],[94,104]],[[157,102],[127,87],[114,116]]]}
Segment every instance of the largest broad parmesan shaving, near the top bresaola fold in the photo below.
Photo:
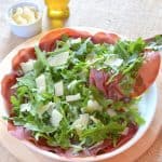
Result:
{"label": "largest broad parmesan shaving, near the top bresaola fold", "polygon": [[48,58],[50,66],[59,66],[67,63],[69,58],[69,52],[63,52],[57,55]]}

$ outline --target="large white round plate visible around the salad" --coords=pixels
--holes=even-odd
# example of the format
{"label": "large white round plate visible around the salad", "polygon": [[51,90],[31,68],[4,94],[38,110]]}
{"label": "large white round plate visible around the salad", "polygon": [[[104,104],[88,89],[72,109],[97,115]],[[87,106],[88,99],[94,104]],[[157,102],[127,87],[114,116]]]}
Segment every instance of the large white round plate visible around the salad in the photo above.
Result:
{"label": "large white round plate visible around the salad", "polygon": [[[86,30],[90,31],[92,33],[95,33],[97,31],[105,31],[102,29],[96,29],[96,28],[89,28],[89,27],[75,27],[75,29],[80,29],[80,30]],[[108,31],[107,31],[108,32]],[[33,44],[35,45],[35,44]],[[10,55],[8,55],[3,62],[0,65],[0,70],[3,71],[0,73],[0,81],[3,79],[3,77],[9,73],[12,69],[11,67],[11,60],[12,58],[16,55],[16,53],[11,53]],[[8,116],[8,111],[5,110],[5,106],[4,106],[4,100],[2,98],[2,95],[0,94],[0,105],[1,105],[1,109],[0,109],[0,114],[1,116]],[[66,157],[60,157],[56,153],[52,153],[52,152],[48,152],[44,151],[38,147],[36,147],[35,145],[30,144],[29,141],[23,141],[27,147],[29,147],[32,151],[36,151],[44,157],[48,157],[52,160],[57,160],[57,161],[70,161],[70,162],[94,162],[94,161],[102,161],[102,160],[108,160],[109,158],[112,158],[113,156],[117,156],[123,151],[125,151],[126,149],[129,149],[130,147],[132,147],[135,143],[137,143],[141,136],[146,133],[146,131],[148,130],[154,112],[156,112],[156,106],[157,106],[157,86],[156,84],[153,84],[148,91],[147,93],[145,93],[143,95],[143,99],[139,103],[139,112],[141,113],[141,117],[145,119],[146,123],[144,125],[141,125],[137,133],[134,135],[134,137],[132,139],[130,139],[127,143],[125,143],[123,146],[121,146],[120,148],[116,149],[112,152],[108,152],[105,154],[100,154],[100,156],[95,156],[95,157],[87,157],[87,158],[66,158]],[[19,141],[21,143],[21,141]]]}

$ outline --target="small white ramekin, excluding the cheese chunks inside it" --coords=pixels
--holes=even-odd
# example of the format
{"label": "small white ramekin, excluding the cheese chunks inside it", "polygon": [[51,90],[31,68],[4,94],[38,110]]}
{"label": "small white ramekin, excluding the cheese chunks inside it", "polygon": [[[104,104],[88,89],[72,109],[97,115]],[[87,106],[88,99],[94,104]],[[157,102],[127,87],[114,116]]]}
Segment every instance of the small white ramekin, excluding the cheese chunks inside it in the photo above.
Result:
{"label": "small white ramekin, excluding the cheese chunks inside it", "polygon": [[[39,17],[36,19],[36,22],[27,25],[17,25],[16,23],[13,22],[11,18],[12,11],[17,9],[18,6],[33,6],[36,10],[38,10]],[[13,31],[14,35],[18,37],[32,37],[41,32],[42,30],[42,9],[39,4],[32,2],[32,1],[19,1],[13,5],[11,5],[6,12],[6,21],[11,27],[11,30]]]}

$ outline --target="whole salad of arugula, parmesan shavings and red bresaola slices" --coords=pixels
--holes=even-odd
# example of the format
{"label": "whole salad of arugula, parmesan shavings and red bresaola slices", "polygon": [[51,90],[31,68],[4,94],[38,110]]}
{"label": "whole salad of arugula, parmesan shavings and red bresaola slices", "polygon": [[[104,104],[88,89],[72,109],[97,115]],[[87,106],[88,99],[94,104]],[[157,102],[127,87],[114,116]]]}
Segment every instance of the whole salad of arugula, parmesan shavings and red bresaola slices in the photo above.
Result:
{"label": "whole salad of arugula, parmesan shavings and red bresaola slices", "polygon": [[2,81],[9,132],[59,154],[119,148],[145,124],[138,103],[160,67],[147,45],[65,28],[21,50]]}

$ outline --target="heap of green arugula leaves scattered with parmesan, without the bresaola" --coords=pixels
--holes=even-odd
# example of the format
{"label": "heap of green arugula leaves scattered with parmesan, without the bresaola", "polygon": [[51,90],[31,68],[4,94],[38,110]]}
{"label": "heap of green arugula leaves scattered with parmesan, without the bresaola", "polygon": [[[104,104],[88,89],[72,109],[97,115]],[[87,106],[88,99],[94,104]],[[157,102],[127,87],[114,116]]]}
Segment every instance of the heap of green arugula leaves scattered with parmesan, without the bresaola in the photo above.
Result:
{"label": "heap of green arugula leaves scattered with parmesan, without the bresaola", "polygon": [[143,64],[144,48],[141,39],[120,40],[111,45],[94,44],[90,38],[65,36],[52,52],[42,52],[36,46],[32,69],[23,71],[13,87],[14,117],[10,120],[30,130],[37,140],[43,137],[50,146],[64,149],[79,147],[80,151],[107,138],[113,143],[129,123],[144,123],[137,111],[139,99],[132,98],[127,104],[107,99],[89,85],[90,70],[95,68],[111,73],[108,82],[122,73],[124,79],[120,85],[129,94]]}

